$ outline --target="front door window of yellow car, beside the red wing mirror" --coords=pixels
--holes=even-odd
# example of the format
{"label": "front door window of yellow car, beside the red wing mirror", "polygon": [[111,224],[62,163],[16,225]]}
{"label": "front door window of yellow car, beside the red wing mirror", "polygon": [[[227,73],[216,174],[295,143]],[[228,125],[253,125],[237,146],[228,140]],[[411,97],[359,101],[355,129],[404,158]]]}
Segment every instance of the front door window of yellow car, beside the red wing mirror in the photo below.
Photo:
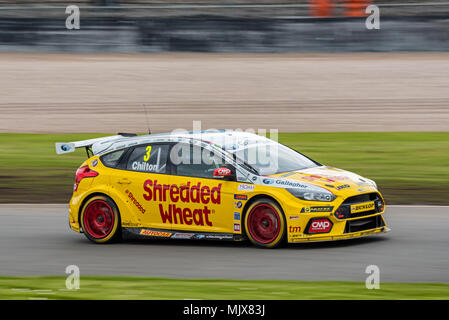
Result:
{"label": "front door window of yellow car, beside the red wing mirror", "polygon": [[178,144],[172,152],[175,172],[179,176],[212,179],[215,169],[226,166],[224,159],[199,146]]}

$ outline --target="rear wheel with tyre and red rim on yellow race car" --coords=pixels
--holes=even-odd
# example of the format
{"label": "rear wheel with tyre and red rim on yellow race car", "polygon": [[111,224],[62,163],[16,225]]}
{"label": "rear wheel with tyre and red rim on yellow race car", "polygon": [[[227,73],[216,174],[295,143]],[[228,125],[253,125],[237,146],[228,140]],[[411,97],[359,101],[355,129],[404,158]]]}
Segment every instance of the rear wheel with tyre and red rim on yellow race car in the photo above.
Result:
{"label": "rear wheel with tyre and red rim on yellow race car", "polygon": [[121,238],[120,213],[111,198],[98,195],[86,201],[80,223],[84,235],[95,243],[111,243]]}

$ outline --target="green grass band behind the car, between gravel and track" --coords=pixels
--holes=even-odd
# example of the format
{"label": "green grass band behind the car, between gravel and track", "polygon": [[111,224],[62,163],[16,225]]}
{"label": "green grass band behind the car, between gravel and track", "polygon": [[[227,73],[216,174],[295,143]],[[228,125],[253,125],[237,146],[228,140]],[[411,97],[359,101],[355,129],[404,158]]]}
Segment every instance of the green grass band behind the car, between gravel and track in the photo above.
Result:
{"label": "green grass band behind the car, between gravel and track", "polygon": [[[58,156],[55,142],[104,134],[0,134],[0,203],[67,202],[84,150]],[[281,133],[326,165],[377,182],[388,204],[449,204],[449,132]]]}

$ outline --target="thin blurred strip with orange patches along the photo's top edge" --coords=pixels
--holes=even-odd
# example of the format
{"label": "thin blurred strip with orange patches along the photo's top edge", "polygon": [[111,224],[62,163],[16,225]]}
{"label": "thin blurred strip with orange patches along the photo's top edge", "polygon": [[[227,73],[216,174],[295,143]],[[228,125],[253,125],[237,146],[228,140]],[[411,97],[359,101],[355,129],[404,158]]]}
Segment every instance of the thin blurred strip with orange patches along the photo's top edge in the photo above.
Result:
{"label": "thin blurred strip with orange patches along the photo's top edge", "polygon": [[[279,3],[278,3],[279,1]],[[418,2],[417,2],[418,1]],[[108,5],[105,5],[108,3]],[[449,15],[449,1],[423,0],[182,0],[137,1],[2,1],[0,17],[57,17],[68,5],[77,5],[85,17],[172,17],[216,15],[226,17],[342,17],[365,16],[365,8],[375,4],[386,16]]]}

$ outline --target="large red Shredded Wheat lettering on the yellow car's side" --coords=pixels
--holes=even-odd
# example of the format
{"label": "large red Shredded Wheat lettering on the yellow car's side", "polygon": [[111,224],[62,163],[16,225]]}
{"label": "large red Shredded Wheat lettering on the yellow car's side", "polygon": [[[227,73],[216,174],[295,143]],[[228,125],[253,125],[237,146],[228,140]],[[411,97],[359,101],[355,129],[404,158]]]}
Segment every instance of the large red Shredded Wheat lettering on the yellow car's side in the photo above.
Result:
{"label": "large red Shredded Wheat lettering on the yellow car's side", "polygon": [[206,206],[208,203],[221,203],[221,183],[210,188],[209,186],[201,186],[201,182],[191,185],[178,187],[176,184],[158,184],[157,180],[148,179],[143,183],[145,193],[143,198],[146,201],[159,202],[181,202],[181,203],[198,203],[205,204],[204,207],[198,209],[180,208],[176,204],[169,204],[168,209],[164,210],[162,203],[159,204],[159,213],[163,223],[186,224],[197,226],[212,226],[209,220],[211,210]]}

